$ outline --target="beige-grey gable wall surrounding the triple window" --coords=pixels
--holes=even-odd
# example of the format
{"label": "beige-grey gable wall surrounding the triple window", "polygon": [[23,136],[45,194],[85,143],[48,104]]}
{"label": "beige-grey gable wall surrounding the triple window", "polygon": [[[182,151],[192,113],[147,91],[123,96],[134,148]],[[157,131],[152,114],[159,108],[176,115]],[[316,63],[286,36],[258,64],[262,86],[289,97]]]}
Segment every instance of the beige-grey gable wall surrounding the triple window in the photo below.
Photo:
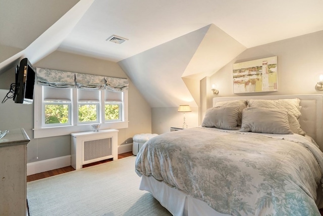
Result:
{"label": "beige-grey gable wall surrounding the triple window", "polygon": [[[33,64],[34,67],[65,70],[71,72],[107,75],[128,78],[117,63],[68,54],[54,52],[41,61]],[[0,75],[5,83],[14,82],[14,68]],[[0,97],[3,99],[9,88],[0,85]],[[8,90],[6,90],[8,89]],[[151,108],[140,95],[136,87],[129,83],[129,110],[128,128],[119,129],[118,145],[126,141],[132,142],[132,137],[139,133],[151,133]],[[33,139],[33,105],[15,104],[12,99],[0,104],[0,130],[24,127],[29,138],[28,162],[40,161],[55,157],[70,155],[70,136],[58,136],[42,139]],[[38,160],[37,160],[38,155]]]}

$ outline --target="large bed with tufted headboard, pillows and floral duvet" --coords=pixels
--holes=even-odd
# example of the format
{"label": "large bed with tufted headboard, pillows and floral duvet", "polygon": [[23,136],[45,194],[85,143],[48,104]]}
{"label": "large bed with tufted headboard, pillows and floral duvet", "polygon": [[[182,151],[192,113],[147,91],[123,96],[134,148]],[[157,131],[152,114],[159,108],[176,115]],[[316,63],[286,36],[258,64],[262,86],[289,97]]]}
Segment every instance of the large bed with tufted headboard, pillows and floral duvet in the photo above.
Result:
{"label": "large bed with tufted headboard, pillows and floral duvet", "polygon": [[139,189],[173,215],[320,215],[322,110],[322,95],[213,98],[201,126],[144,144]]}

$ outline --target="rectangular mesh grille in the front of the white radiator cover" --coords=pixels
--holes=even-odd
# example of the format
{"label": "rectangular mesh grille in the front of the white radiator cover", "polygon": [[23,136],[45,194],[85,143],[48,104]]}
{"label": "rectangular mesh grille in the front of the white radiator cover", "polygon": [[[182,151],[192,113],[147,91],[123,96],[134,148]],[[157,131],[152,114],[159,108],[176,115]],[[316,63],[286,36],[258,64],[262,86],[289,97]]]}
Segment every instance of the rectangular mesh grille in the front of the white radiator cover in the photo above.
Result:
{"label": "rectangular mesh grille in the front of the white radiator cover", "polygon": [[112,138],[84,142],[84,161],[112,155]]}

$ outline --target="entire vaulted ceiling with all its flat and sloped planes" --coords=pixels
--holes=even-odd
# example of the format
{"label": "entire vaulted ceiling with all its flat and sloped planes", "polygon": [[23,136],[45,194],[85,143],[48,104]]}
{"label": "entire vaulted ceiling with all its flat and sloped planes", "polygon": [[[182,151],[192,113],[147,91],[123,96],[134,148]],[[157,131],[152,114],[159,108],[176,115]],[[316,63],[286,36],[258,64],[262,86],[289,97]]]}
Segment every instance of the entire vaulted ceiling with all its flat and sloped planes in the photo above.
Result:
{"label": "entire vaulted ceiling with all its flat and sloped planes", "polygon": [[0,45],[22,50],[0,74],[59,50],[118,62],[151,107],[194,106],[188,79],[245,49],[323,30],[322,9],[321,0],[0,0]]}

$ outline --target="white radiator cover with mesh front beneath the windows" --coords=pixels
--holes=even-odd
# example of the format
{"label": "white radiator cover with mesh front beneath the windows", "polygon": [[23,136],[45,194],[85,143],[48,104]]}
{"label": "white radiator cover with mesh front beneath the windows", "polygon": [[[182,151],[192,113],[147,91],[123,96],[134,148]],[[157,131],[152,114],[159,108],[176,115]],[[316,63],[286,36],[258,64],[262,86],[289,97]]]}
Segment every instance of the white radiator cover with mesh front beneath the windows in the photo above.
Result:
{"label": "white radiator cover with mesh front beneath the windows", "polygon": [[118,159],[118,130],[71,134],[71,165],[75,169],[109,158]]}

